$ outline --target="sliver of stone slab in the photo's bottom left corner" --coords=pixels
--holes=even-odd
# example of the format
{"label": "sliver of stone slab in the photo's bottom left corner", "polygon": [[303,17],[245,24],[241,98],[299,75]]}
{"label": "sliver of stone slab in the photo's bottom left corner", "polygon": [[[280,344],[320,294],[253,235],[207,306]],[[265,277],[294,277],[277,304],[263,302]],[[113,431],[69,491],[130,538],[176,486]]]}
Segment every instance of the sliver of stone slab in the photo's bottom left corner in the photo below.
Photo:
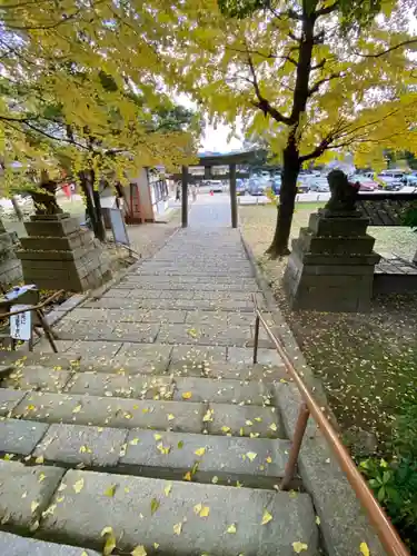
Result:
{"label": "sliver of stone slab in the photo's bottom left corner", "polygon": [[96,550],[78,546],[46,543],[36,538],[19,537],[0,532],[0,554],[4,556],[99,556]]}

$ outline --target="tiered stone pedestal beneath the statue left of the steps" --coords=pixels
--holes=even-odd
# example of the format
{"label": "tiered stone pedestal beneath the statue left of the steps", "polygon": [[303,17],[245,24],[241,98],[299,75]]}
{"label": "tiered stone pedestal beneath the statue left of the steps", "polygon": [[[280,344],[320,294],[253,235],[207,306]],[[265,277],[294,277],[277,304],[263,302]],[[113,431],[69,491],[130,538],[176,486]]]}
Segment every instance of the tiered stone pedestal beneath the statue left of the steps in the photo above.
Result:
{"label": "tiered stone pedestal beneath the statue left of the steps", "polygon": [[39,215],[24,222],[27,238],[17,251],[27,284],[41,289],[86,291],[111,277],[99,241],[68,214]]}

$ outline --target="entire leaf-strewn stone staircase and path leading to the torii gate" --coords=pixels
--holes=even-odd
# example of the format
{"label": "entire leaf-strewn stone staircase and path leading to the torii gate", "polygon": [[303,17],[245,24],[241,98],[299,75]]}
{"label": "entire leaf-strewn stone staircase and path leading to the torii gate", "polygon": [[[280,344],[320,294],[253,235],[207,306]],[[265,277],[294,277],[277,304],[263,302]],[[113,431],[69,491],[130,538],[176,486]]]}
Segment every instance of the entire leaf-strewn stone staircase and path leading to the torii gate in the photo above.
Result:
{"label": "entire leaf-strewn stone staircase and path leading to the torii gate", "polygon": [[321,554],[300,478],[279,492],[290,385],[265,336],[250,364],[234,234],[177,234],[61,321],[62,354],[4,358],[2,554]]}

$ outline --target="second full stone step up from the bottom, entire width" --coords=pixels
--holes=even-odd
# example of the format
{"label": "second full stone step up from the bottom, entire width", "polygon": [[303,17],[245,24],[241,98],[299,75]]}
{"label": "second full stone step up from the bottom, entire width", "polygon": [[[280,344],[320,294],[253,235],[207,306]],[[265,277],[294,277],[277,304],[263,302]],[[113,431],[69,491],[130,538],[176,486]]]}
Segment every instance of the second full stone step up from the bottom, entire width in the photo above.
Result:
{"label": "second full stone step up from the bottom, entire width", "polygon": [[[86,425],[0,423],[0,453],[63,467],[178,480],[278,488],[289,440]],[[29,456],[29,457],[28,457]],[[191,476],[187,474],[190,473]]]}

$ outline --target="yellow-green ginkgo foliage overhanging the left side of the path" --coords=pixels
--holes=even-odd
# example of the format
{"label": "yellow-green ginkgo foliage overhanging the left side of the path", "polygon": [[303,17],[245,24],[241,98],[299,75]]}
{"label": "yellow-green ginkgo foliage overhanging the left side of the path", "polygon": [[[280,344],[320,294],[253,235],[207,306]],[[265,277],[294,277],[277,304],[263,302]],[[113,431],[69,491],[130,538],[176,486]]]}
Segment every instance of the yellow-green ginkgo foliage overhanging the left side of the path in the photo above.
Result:
{"label": "yellow-green ginkgo foliage overhanging the left side of the path", "polygon": [[40,176],[56,180],[62,170],[97,187],[109,177],[123,182],[143,166],[173,169],[192,158],[198,122],[167,95],[145,7],[17,0],[1,3],[0,18],[9,188],[33,187]]}

